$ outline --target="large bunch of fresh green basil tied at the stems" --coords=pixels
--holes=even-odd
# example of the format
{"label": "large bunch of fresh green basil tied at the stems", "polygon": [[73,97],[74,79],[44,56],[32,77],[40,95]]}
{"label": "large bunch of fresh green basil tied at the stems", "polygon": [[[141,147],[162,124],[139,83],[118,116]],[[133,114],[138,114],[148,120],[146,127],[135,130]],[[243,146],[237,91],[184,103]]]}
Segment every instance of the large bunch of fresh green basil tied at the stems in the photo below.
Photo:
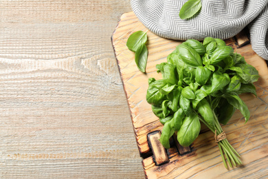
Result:
{"label": "large bunch of fresh green basil tied at the stems", "polygon": [[[169,138],[177,131],[177,140],[189,146],[199,135],[200,121],[216,135],[223,132],[235,109],[249,120],[249,109],[238,94],[256,95],[253,83],[258,71],[234,53],[221,39],[207,37],[203,44],[188,40],[168,55],[167,62],[156,66],[163,79],[149,79],[146,100],[164,125],[160,142],[169,148]],[[227,139],[218,143],[232,167],[241,165],[238,153]]]}

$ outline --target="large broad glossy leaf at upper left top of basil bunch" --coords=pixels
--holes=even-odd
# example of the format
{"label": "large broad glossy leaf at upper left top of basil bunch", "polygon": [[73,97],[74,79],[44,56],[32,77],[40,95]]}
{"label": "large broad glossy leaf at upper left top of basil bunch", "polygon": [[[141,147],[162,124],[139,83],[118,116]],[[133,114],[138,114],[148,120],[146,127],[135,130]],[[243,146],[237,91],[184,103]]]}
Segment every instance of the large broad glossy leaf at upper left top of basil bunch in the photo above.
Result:
{"label": "large broad glossy leaf at upper left top of basil bunch", "polygon": [[187,45],[181,44],[177,46],[179,56],[182,61],[190,67],[203,66],[200,55]]}

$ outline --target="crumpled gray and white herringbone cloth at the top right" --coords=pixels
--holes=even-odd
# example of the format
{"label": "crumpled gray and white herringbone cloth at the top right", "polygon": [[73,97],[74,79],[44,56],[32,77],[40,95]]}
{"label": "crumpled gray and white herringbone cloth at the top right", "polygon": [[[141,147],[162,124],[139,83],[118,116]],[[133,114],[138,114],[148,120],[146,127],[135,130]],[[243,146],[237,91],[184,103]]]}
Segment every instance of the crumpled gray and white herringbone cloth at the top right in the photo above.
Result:
{"label": "crumpled gray and white herringbone cloth at the top right", "polygon": [[131,0],[131,6],[146,28],[167,39],[228,39],[248,26],[253,50],[268,60],[268,0],[201,0],[201,12],[182,20],[186,1]]}

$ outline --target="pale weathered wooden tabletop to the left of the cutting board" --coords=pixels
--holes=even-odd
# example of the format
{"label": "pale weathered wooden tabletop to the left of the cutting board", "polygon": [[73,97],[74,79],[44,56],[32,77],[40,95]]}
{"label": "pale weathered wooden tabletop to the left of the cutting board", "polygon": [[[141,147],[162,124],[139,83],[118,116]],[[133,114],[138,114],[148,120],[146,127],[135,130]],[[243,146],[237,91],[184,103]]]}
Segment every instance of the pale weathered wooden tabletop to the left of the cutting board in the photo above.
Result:
{"label": "pale weathered wooden tabletop to the left of the cutting board", "polygon": [[110,39],[129,11],[0,1],[0,178],[144,178]]}

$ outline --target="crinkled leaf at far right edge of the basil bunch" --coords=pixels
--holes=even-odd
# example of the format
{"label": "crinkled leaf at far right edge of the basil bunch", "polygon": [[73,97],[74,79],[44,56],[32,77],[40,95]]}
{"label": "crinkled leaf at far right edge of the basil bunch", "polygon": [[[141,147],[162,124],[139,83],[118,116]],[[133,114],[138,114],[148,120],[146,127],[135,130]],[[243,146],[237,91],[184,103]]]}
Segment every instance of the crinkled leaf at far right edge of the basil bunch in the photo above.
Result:
{"label": "crinkled leaf at far right edge of the basil bunch", "polygon": [[236,67],[240,67],[242,72],[237,72],[237,74],[243,79],[241,83],[254,83],[258,81],[258,70],[249,64],[239,63]]}

